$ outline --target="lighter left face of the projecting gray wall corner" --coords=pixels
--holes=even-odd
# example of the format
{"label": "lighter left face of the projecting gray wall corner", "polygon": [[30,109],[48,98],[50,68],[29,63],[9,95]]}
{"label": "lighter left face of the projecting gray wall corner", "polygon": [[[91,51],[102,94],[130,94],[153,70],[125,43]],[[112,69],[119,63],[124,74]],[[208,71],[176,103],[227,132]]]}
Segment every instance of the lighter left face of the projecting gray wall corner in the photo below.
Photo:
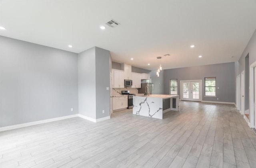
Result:
{"label": "lighter left face of the projecting gray wall corner", "polygon": [[96,119],[95,47],[78,54],[79,113]]}

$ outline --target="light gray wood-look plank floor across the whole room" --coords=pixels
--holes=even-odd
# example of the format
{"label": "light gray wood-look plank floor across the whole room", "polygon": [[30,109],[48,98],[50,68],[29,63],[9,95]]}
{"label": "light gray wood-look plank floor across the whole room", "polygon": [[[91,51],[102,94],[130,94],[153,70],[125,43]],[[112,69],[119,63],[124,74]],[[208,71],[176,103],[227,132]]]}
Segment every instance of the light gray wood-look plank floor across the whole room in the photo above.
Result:
{"label": "light gray wood-look plank floor across the whole room", "polygon": [[234,105],[180,102],[164,119],[116,112],[0,132],[1,168],[250,168],[256,135]]}

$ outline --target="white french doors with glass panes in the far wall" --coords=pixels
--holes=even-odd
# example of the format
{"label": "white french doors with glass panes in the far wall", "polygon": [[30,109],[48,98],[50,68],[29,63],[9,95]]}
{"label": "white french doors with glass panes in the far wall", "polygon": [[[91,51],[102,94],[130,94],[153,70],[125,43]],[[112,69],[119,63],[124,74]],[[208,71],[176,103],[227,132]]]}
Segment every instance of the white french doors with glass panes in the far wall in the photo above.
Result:
{"label": "white french doors with glass panes in the far wall", "polygon": [[202,80],[180,81],[181,100],[202,101]]}

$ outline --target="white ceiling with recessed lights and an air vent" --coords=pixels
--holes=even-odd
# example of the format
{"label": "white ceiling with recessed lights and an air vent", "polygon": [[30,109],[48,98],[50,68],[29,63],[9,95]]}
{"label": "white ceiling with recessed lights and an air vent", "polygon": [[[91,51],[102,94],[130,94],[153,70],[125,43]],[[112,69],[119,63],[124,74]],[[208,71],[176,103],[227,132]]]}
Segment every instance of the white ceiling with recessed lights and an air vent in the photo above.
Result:
{"label": "white ceiling with recessed lights and an air vent", "polygon": [[[75,53],[97,46],[112,61],[149,70],[170,54],[161,59],[169,69],[237,61],[256,29],[255,11],[255,0],[2,0],[0,35]],[[110,19],[120,25],[101,30]]]}

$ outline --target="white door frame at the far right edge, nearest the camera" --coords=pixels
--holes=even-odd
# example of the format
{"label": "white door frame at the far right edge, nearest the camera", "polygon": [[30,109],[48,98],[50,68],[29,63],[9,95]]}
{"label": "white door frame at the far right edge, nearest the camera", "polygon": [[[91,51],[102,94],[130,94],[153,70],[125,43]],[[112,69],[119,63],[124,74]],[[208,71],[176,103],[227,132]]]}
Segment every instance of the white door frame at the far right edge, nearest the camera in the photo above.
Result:
{"label": "white door frame at the far right edge, nearest the camera", "polygon": [[[250,87],[249,87],[249,107],[250,107],[250,127],[255,128],[254,122],[254,67],[256,67],[256,61],[252,64],[250,64],[250,71],[249,71],[249,76],[250,76]],[[250,89],[252,88],[252,89]]]}

